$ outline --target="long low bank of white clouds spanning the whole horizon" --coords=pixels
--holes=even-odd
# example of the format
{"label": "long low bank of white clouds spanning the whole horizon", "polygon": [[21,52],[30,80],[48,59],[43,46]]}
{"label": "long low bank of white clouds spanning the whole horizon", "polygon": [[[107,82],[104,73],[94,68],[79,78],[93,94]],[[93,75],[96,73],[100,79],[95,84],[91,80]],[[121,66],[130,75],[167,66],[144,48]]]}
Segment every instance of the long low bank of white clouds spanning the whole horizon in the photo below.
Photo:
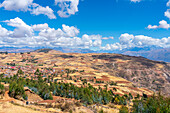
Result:
{"label": "long low bank of white clouds spanning the whole horizon", "polygon": [[170,47],[170,37],[155,39],[144,35],[134,36],[128,33],[122,34],[119,37],[119,43],[107,44],[105,47],[102,47],[102,39],[113,39],[113,37],[87,34],[78,37],[80,31],[74,26],[63,24],[62,28],[58,29],[50,28],[47,23],[31,26],[27,25],[18,17],[4,22],[14,27],[14,30],[9,31],[0,25],[0,47],[70,47],[97,48],[103,50],[121,50],[125,48],[148,46]]}

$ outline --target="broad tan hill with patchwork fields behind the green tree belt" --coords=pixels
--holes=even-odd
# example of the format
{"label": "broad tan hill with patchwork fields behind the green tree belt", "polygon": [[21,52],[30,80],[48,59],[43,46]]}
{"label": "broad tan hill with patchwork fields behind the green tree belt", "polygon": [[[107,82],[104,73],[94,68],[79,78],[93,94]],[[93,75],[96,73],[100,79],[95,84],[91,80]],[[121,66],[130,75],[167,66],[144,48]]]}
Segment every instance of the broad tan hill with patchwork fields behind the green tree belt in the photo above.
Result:
{"label": "broad tan hill with patchwork fields behind the green tree belt", "polygon": [[[1,54],[0,58],[1,66],[6,64],[8,66],[13,66],[13,64],[21,66],[25,74],[34,73],[37,68],[51,67],[54,71],[83,70],[83,73],[77,73],[77,76],[96,77],[96,81],[104,82],[111,80],[119,85],[118,93],[122,95],[126,92],[129,93],[128,91],[133,89],[131,86],[148,88],[154,92],[162,91],[164,94],[170,95],[170,64],[166,62],[121,54],[62,53],[51,49]],[[7,70],[2,70],[1,73],[3,72],[7,72]],[[7,75],[15,73],[16,71],[8,71]],[[96,83],[95,85],[98,86]],[[128,89],[125,90],[126,88],[121,87],[121,85],[128,86]],[[135,94],[135,91],[132,93]]]}

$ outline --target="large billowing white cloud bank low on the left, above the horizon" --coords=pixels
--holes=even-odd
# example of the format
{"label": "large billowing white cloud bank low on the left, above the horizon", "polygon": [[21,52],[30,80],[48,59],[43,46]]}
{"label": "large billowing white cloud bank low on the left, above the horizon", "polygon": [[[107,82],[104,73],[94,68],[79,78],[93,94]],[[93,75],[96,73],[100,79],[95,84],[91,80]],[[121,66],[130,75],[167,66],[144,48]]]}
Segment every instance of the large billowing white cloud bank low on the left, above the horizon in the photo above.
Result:
{"label": "large billowing white cloud bank low on the left, above the horizon", "polygon": [[63,24],[61,28],[55,29],[50,28],[47,23],[27,25],[18,17],[3,22],[14,27],[14,30],[9,31],[0,25],[0,47],[100,48],[102,45],[101,35],[84,34],[78,37],[80,31],[74,26]]}

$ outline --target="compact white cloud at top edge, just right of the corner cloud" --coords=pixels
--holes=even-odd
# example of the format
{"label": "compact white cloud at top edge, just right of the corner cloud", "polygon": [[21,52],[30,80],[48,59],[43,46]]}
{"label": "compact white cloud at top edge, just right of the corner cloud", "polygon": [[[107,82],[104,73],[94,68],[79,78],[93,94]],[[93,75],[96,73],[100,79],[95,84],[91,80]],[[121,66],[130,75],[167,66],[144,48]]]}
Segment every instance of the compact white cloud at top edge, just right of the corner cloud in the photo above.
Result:
{"label": "compact white cloud at top edge, just right of the corner cloud", "polygon": [[79,0],[55,0],[55,4],[61,8],[57,12],[60,17],[69,17],[78,12]]}

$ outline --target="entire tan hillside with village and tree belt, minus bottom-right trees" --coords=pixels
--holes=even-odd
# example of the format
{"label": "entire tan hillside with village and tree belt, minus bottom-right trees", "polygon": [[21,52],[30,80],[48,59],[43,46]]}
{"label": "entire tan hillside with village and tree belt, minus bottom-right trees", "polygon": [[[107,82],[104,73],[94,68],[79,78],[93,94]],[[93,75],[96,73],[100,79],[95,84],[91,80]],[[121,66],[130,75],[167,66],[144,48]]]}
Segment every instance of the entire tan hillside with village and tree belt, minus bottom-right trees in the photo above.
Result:
{"label": "entire tan hillside with village and tree belt, minus bottom-right trees", "polygon": [[[0,95],[0,111],[16,107],[25,112],[118,113],[123,106],[132,111],[134,99],[152,98],[159,91],[169,97],[169,75],[169,63],[121,54],[52,49],[1,53],[0,80],[5,94]],[[23,93],[15,94],[15,90]]]}

